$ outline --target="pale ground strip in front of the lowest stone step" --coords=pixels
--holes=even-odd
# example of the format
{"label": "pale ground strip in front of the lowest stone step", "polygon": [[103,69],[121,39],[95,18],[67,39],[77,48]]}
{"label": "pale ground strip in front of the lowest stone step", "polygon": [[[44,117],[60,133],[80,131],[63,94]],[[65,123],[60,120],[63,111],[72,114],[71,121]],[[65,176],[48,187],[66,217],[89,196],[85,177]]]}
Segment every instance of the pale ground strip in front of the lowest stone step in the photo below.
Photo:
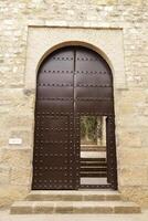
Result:
{"label": "pale ground strip in front of the lowest stone step", "polygon": [[141,214],[28,214],[10,215],[0,211],[0,221],[148,221],[148,210]]}

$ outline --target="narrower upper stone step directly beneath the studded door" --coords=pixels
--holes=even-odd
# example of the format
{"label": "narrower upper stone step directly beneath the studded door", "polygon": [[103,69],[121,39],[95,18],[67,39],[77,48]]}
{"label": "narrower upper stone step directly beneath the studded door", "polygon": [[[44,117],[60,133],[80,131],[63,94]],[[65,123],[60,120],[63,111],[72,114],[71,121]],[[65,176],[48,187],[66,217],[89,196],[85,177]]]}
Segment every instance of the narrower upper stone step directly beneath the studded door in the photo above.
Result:
{"label": "narrower upper stone step directly beneath the studded door", "polygon": [[120,194],[113,190],[71,191],[71,190],[33,190],[25,198],[28,201],[101,201],[120,200]]}

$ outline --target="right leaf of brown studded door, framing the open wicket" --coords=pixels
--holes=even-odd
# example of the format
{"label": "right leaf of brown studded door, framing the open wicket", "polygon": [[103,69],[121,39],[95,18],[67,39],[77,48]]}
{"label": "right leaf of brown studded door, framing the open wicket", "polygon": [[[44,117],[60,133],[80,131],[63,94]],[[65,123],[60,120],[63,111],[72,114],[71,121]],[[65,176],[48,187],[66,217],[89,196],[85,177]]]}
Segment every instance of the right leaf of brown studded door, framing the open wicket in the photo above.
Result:
{"label": "right leaf of brown studded door, framing the open wicket", "polygon": [[[106,148],[107,166],[104,167],[99,164],[102,152],[96,152],[98,158],[86,158],[83,152],[81,161],[84,166],[81,166],[81,179],[83,179],[82,188],[117,188],[117,171],[116,171],[116,144],[115,144],[115,126],[114,125],[114,96],[113,96],[113,77],[110,69],[107,63],[96,53],[78,48],[76,49],[75,56],[75,115],[80,117],[91,116],[107,116],[108,119],[113,119],[109,124],[106,124]],[[113,118],[112,118],[113,117]],[[78,126],[81,127],[81,125]],[[91,127],[91,123],[89,123]],[[89,128],[88,127],[88,128]],[[87,129],[88,129],[87,128]],[[81,131],[78,131],[81,133]],[[114,140],[114,141],[113,141]],[[88,137],[86,139],[89,143]],[[88,146],[88,145],[85,145]],[[89,145],[91,146],[91,145]],[[96,145],[97,146],[97,145]],[[82,147],[81,147],[82,148]],[[88,148],[88,147],[87,147]],[[85,155],[84,155],[85,154]],[[113,157],[114,155],[114,157]],[[89,160],[94,166],[89,166]],[[95,164],[98,162],[96,167]],[[93,165],[92,164],[92,165]],[[105,162],[106,164],[106,162]],[[84,185],[84,178],[85,185]],[[105,185],[103,179],[106,178]],[[108,179],[107,179],[108,178]],[[89,185],[89,179],[94,179],[93,185]],[[97,181],[96,181],[97,180]],[[82,183],[82,182],[81,182]],[[87,183],[87,185],[86,185]]]}

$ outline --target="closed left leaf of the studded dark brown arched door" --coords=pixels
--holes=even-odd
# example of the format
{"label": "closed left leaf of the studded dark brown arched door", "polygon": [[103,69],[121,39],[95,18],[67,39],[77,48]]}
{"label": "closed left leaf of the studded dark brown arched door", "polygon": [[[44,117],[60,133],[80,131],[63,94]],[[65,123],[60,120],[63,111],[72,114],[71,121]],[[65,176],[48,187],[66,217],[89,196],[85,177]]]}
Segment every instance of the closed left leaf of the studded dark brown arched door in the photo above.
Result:
{"label": "closed left leaf of the studded dark brown arched door", "polygon": [[47,57],[38,75],[33,189],[75,189],[74,52]]}

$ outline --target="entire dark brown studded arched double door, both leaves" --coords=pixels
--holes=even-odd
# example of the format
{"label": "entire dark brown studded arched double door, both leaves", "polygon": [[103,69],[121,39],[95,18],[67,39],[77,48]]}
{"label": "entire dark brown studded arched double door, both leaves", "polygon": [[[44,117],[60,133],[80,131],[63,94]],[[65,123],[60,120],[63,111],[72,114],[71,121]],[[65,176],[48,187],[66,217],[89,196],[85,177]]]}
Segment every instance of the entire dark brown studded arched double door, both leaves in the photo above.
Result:
{"label": "entire dark brown studded arched double door, both leaves", "polygon": [[[104,156],[84,157],[81,150],[98,147],[96,140]],[[113,75],[96,52],[65,46],[38,73],[32,189],[80,188],[117,189]]]}

